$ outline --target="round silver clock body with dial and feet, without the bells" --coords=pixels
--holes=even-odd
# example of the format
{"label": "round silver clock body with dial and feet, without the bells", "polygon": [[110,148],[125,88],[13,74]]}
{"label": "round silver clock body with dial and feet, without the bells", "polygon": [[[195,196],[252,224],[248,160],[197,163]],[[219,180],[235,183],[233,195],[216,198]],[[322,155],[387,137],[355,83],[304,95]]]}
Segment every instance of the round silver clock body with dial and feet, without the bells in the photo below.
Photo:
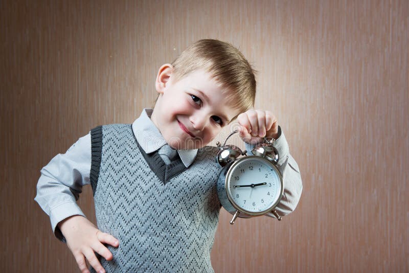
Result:
{"label": "round silver clock body with dial and feet, without the bells", "polygon": [[271,212],[280,202],[283,191],[279,169],[265,157],[256,155],[225,165],[217,181],[217,195],[223,208],[241,218],[267,215],[280,220]]}

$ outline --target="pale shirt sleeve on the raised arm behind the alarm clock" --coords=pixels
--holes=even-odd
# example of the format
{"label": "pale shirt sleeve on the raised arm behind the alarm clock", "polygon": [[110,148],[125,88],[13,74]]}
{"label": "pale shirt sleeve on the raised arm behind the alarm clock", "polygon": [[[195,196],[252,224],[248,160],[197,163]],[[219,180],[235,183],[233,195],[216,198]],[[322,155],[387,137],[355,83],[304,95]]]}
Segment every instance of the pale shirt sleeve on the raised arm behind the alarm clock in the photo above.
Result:
{"label": "pale shirt sleeve on the raised arm behind the alarm clock", "polygon": [[[279,162],[278,169],[283,175],[284,192],[283,196],[276,207],[277,213],[280,216],[287,215],[294,211],[300,201],[303,184],[301,181],[300,169],[297,162],[291,156],[285,135],[279,126],[279,137],[274,142],[273,146],[278,150]],[[247,153],[251,153],[254,145],[245,143]]]}

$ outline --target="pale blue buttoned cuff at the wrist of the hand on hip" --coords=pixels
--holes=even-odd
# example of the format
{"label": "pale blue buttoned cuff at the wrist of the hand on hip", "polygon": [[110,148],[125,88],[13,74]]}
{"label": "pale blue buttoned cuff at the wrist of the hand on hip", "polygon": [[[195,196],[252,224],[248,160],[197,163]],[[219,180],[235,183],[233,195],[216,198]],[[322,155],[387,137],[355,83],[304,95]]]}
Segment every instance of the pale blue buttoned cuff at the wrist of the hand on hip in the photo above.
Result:
{"label": "pale blue buttoned cuff at the wrist of the hand on hip", "polygon": [[57,224],[65,218],[73,215],[81,215],[85,217],[84,213],[81,211],[80,207],[78,207],[76,202],[65,202],[50,210],[50,220],[54,235],[64,243],[66,242],[65,238]]}

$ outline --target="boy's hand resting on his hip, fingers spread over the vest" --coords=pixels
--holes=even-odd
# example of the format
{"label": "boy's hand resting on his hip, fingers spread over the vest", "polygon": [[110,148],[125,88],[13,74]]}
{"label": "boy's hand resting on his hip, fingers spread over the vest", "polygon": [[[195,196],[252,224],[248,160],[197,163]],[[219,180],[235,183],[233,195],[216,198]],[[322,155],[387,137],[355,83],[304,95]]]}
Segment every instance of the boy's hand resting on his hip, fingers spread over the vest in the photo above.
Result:
{"label": "boy's hand resting on his hip, fingers spread over the vest", "polygon": [[105,272],[97,259],[95,252],[106,260],[112,259],[112,253],[103,243],[118,247],[118,240],[107,233],[103,233],[97,227],[80,215],[74,215],[58,223],[64,235],[67,246],[73,253],[77,264],[83,273],[89,273],[85,259],[97,272]]}

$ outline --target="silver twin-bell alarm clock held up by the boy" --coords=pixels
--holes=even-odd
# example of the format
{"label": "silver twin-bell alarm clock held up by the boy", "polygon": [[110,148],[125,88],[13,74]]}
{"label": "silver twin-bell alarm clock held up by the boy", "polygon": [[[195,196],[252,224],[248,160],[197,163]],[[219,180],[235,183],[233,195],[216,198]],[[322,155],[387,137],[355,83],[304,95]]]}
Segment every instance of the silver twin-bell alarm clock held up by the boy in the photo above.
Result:
{"label": "silver twin-bell alarm clock held up by the boy", "polygon": [[[258,144],[253,155],[234,145],[226,145],[227,140],[238,130],[231,132],[223,144],[216,143],[217,162],[222,166],[217,180],[217,196],[223,208],[233,215],[231,224],[237,217],[252,218],[266,215],[281,220],[276,206],[284,191],[283,176],[277,168],[279,154],[273,146],[275,140]],[[241,156],[241,157],[239,157]]]}

